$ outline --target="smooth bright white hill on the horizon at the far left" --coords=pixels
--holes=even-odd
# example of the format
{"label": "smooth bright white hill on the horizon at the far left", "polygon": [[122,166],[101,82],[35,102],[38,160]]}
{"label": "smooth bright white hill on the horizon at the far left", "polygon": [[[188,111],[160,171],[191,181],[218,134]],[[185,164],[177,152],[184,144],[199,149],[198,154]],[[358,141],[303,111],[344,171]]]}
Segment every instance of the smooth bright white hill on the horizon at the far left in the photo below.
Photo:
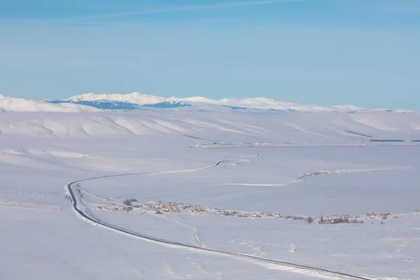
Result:
{"label": "smooth bright white hill on the horizon at the far left", "polygon": [[79,104],[50,104],[34,100],[4,97],[0,94],[0,112],[91,112],[99,109]]}

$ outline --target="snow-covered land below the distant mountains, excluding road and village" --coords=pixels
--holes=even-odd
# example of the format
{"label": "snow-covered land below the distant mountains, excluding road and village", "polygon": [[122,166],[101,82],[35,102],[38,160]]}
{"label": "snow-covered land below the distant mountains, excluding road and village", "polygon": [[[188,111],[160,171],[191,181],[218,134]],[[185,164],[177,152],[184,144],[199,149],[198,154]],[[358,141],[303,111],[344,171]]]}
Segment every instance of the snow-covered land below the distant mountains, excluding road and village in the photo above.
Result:
{"label": "snow-covered land below the distant mountains, excluding road and village", "polygon": [[[200,248],[366,279],[420,278],[419,112],[103,111],[28,102],[0,98],[0,279],[340,279],[133,238],[75,215],[66,183],[124,174],[142,175],[78,183],[78,207],[120,228]],[[135,214],[97,209],[111,203],[104,197],[398,218],[319,224]]]}

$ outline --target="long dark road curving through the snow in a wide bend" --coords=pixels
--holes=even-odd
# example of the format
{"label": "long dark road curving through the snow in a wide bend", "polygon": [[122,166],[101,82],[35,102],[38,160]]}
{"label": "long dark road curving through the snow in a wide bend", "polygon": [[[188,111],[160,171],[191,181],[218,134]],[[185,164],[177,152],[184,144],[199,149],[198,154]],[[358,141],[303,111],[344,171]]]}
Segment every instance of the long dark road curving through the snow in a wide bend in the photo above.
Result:
{"label": "long dark road curving through the snow in a wide bend", "polygon": [[[259,154],[250,155],[250,156],[246,156],[246,157],[242,157],[242,158],[250,158],[250,157],[255,157],[255,156],[259,156]],[[184,243],[181,243],[181,242],[170,241],[170,240],[167,240],[167,239],[161,239],[161,238],[153,237],[153,236],[149,236],[149,235],[143,235],[139,232],[133,232],[132,230],[127,230],[125,228],[120,228],[116,225],[111,225],[109,223],[101,221],[98,218],[95,218],[94,216],[92,216],[88,211],[85,212],[78,207],[78,199],[75,195],[75,190],[74,189],[79,190],[77,184],[81,183],[81,182],[93,181],[93,180],[97,180],[97,179],[123,177],[123,176],[141,176],[141,175],[174,174],[174,173],[182,173],[182,172],[196,172],[196,171],[200,171],[200,170],[216,168],[224,162],[229,162],[229,161],[237,160],[237,159],[240,159],[240,158],[232,158],[232,159],[229,159],[229,160],[222,160],[222,161],[216,162],[216,164],[211,165],[209,167],[201,167],[201,168],[197,168],[197,169],[184,169],[184,170],[176,170],[176,171],[168,171],[168,172],[144,172],[144,173],[134,173],[134,174],[119,174],[119,175],[93,177],[93,178],[89,178],[89,179],[81,179],[81,180],[78,180],[78,181],[73,181],[71,183],[67,183],[66,186],[64,186],[64,190],[65,190],[65,193],[67,195],[69,195],[69,197],[71,199],[73,212],[76,214],[76,216],[78,216],[79,218],[82,218],[83,221],[86,221],[87,223],[91,223],[92,225],[97,225],[97,226],[100,226],[102,228],[106,228],[108,230],[113,230],[113,231],[116,231],[116,232],[119,232],[119,233],[123,233],[123,234],[129,235],[131,237],[144,239],[146,241],[153,241],[153,242],[159,243],[159,244],[167,244],[167,245],[171,245],[171,246],[177,246],[177,247],[180,247],[180,248],[189,248],[189,249],[193,249],[193,250],[197,250],[197,251],[204,251],[204,252],[208,252],[208,253],[218,253],[218,254],[222,254],[222,255],[232,255],[232,256],[235,256],[235,257],[257,260],[257,261],[260,261],[260,262],[272,263],[272,264],[275,264],[275,265],[283,265],[285,267],[293,267],[293,268],[297,268],[297,269],[304,269],[304,270],[311,271],[311,272],[318,272],[319,274],[323,274],[325,276],[327,276],[327,275],[328,276],[336,276],[340,279],[372,280],[372,279],[369,279],[369,278],[366,278],[366,277],[363,277],[363,276],[356,276],[356,275],[352,275],[352,274],[346,274],[346,273],[343,273],[343,272],[336,272],[336,271],[332,271],[332,270],[329,270],[329,269],[311,267],[311,266],[308,266],[308,265],[300,265],[300,264],[293,263],[293,262],[286,262],[286,261],[282,261],[282,260],[274,260],[274,259],[271,259],[271,258],[262,258],[262,257],[258,257],[256,255],[248,255],[248,254],[244,254],[244,253],[235,253],[235,252],[230,252],[230,251],[223,251],[223,250],[219,250],[219,249],[215,249],[215,248],[204,248],[204,247],[200,247],[200,246],[184,244]]]}

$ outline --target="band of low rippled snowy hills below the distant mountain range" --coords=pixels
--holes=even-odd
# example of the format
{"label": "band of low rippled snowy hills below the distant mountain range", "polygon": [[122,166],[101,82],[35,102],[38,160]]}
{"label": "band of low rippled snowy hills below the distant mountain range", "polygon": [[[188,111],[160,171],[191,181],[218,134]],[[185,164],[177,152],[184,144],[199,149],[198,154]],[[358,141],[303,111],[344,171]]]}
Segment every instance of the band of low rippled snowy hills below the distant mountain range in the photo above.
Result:
{"label": "band of low rippled snowy hills below the distant mountain range", "polygon": [[[420,112],[282,113],[264,111],[142,110],[71,114],[8,113],[3,135],[87,138],[162,137],[188,144],[370,145],[374,140],[420,139]],[[381,141],[379,141],[380,144]]]}

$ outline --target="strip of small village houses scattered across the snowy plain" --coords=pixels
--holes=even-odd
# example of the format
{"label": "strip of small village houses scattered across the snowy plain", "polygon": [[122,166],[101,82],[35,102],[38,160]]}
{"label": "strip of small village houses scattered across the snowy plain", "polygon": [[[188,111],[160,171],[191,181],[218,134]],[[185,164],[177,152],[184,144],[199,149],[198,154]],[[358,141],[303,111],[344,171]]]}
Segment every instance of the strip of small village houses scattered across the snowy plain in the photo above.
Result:
{"label": "strip of small village houses scattered across the snowy plain", "polygon": [[218,216],[233,216],[237,218],[279,218],[286,220],[300,220],[307,221],[307,223],[321,223],[321,224],[337,224],[337,223],[364,223],[367,219],[384,220],[390,218],[398,218],[398,215],[391,214],[364,214],[363,216],[349,216],[349,215],[335,215],[335,216],[284,216],[274,214],[271,212],[249,212],[249,211],[235,211],[215,209],[211,207],[202,207],[201,205],[184,204],[177,202],[138,202],[135,199],[121,200],[118,198],[104,198],[104,201],[113,202],[109,205],[97,206],[94,209],[102,211],[127,211],[137,214],[174,214],[186,213],[196,215],[218,215]]}

